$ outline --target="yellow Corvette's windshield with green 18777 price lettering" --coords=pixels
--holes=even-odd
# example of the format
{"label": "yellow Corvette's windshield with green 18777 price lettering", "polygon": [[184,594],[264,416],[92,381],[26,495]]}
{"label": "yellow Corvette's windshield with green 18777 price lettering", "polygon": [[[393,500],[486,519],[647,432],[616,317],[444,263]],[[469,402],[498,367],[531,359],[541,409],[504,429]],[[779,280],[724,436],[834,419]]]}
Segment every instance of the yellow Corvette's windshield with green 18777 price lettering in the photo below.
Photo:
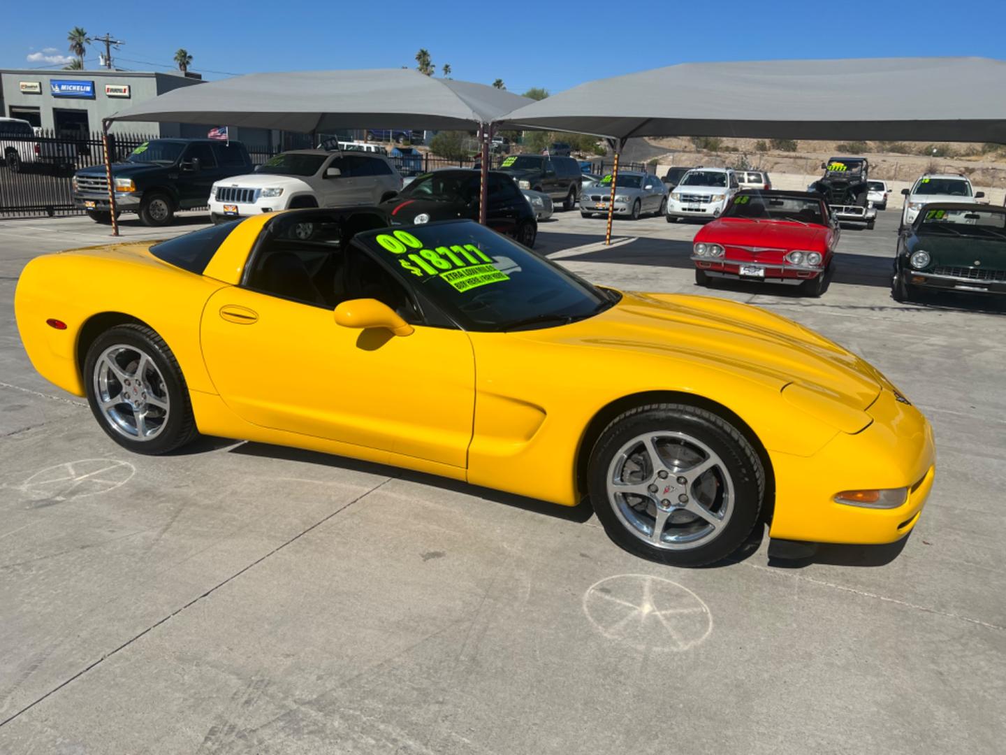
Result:
{"label": "yellow Corvette's windshield with green 18777 price lettering", "polygon": [[618,298],[470,220],[385,229],[355,241],[466,330],[565,325]]}

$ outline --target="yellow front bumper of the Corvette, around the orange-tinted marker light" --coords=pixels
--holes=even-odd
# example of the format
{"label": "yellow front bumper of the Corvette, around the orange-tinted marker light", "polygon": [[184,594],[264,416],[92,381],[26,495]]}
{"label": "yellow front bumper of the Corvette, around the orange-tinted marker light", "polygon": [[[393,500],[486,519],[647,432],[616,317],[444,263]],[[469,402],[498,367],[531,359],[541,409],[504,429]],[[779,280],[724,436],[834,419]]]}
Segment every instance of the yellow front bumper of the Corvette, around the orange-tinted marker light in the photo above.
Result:
{"label": "yellow front bumper of the Corvette, around the orange-tinted marker light", "polygon": [[[936,446],[923,414],[885,387],[867,408],[870,424],[839,432],[810,457],[770,451],[776,509],[770,536],[814,543],[881,545],[904,538],[918,521],[933,488]],[[842,490],[907,487],[895,508],[834,500]]]}

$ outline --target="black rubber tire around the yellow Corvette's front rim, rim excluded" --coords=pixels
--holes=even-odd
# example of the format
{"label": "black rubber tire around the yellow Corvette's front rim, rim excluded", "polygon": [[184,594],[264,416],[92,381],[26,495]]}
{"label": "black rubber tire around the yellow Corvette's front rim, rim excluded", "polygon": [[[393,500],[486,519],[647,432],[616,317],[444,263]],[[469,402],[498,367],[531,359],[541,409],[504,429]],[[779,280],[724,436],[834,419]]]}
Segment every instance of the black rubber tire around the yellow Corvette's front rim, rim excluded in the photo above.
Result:
{"label": "black rubber tire around the yellow Corvette's front rim, rim excluded", "polygon": [[[616,418],[602,433],[591,453],[588,488],[594,510],[608,536],[621,548],[650,561],[682,567],[713,564],[733,554],[758,523],[765,490],[765,476],[750,444],[730,426],[705,410],[685,405],[642,407]],[[686,551],[654,548],[633,535],[619,519],[608,498],[609,465],[619,449],[646,432],[679,431],[711,448],[727,467],[733,482],[733,512],[713,541]]]}

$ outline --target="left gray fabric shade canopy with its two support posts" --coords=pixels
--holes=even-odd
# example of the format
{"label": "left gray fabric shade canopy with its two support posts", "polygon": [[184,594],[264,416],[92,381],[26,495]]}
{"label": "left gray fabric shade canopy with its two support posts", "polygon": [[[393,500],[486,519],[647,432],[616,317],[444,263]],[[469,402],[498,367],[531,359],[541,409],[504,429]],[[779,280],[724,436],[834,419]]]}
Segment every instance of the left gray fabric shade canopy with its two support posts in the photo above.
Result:
{"label": "left gray fabric shade canopy with its two support posts", "polygon": [[408,68],[252,73],[173,90],[122,110],[103,123],[113,234],[119,235],[108,150],[108,129],[113,121],[170,121],[303,133],[362,126],[478,129],[483,157],[480,217],[484,222],[491,124],[530,102],[493,87],[434,79]]}

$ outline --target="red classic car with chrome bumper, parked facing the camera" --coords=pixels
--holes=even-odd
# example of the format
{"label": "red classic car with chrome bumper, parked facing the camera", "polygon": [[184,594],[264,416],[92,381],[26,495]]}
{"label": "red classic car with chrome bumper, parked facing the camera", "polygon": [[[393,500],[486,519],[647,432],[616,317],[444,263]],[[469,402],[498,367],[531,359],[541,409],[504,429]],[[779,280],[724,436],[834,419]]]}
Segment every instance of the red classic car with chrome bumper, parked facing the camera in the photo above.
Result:
{"label": "red classic car with chrome bumper, parked facing the camera", "polygon": [[695,283],[784,283],[821,296],[831,280],[838,237],[838,222],[820,194],[742,191],[695,235]]}

